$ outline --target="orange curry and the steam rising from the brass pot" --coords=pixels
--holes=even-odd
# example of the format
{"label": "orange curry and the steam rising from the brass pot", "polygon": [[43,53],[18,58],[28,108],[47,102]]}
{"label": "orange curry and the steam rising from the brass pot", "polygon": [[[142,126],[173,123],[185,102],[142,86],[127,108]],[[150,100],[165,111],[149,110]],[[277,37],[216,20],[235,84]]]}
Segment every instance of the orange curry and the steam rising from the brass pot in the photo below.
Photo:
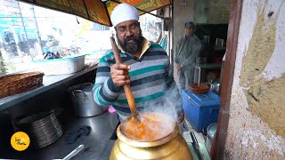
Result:
{"label": "orange curry and the steam rising from the brass pot", "polygon": [[[151,102],[145,104],[144,110],[140,112],[146,120],[137,123],[132,117],[126,119],[122,125],[122,132],[133,140],[160,140],[174,131],[177,119],[175,106],[182,105],[178,90],[173,87],[166,92],[162,102]],[[143,119],[143,118],[142,118]]]}

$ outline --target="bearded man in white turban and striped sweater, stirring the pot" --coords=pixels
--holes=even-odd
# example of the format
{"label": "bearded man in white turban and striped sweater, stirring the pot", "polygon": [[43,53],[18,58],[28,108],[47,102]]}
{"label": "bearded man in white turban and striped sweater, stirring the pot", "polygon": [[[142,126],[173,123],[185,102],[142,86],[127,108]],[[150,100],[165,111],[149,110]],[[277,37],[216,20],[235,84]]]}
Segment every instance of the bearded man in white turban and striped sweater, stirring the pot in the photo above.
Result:
{"label": "bearded man in white turban and striped sweater, stirring the pot", "polygon": [[131,114],[123,85],[130,84],[139,112],[157,111],[160,108],[166,111],[173,106],[167,110],[175,110],[175,118],[182,122],[182,100],[172,76],[167,52],[159,44],[142,36],[136,8],[129,4],[118,4],[110,20],[116,30],[123,63],[116,64],[111,50],[99,61],[93,89],[95,102],[116,108],[118,119],[123,121]]}

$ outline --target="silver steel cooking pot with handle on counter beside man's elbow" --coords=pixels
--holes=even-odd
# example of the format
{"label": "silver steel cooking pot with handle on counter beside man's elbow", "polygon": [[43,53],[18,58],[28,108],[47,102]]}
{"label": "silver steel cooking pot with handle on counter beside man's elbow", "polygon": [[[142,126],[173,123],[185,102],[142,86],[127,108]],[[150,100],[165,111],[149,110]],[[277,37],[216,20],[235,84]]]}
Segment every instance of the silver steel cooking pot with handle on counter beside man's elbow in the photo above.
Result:
{"label": "silver steel cooking pot with handle on counter beside man's elbow", "polygon": [[85,83],[69,87],[68,91],[71,94],[73,113],[76,116],[97,116],[108,110],[108,108],[98,106],[95,103],[92,93],[93,86],[93,84]]}

